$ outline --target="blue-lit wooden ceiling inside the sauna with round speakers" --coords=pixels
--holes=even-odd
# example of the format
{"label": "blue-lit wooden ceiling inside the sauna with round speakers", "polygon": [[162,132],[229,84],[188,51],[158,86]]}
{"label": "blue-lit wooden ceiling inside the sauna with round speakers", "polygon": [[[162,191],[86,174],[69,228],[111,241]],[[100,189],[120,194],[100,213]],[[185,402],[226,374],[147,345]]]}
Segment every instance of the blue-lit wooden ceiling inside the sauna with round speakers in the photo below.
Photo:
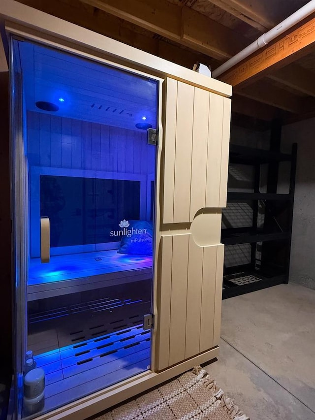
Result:
{"label": "blue-lit wooden ceiling inside the sauna with round speakers", "polygon": [[48,101],[57,116],[126,129],[146,117],[156,125],[155,82],[28,42],[19,51],[27,110],[45,112],[35,103]]}

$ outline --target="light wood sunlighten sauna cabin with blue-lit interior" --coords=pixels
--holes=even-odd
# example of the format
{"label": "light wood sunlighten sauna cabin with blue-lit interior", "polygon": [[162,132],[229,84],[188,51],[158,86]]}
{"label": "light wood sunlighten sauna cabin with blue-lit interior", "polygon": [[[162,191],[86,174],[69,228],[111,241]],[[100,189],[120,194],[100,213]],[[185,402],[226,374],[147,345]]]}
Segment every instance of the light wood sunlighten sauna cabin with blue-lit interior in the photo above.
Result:
{"label": "light wood sunlighten sauna cabin with blue-lit interior", "polygon": [[0,15],[16,418],[84,419],[219,354],[231,88],[13,0]]}

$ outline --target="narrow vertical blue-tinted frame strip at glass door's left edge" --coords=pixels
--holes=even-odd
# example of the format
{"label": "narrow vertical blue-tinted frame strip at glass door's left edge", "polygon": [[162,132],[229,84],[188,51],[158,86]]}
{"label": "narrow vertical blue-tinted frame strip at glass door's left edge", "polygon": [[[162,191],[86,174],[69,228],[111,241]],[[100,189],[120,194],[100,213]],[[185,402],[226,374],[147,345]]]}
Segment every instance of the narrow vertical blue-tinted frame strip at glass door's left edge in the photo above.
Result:
{"label": "narrow vertical blue-tinted frame strip at glass door's left edge", "polygon": [[[10,43],[11,44],[11,43]],[[17,54],[17,55],[16,55]],[[15,63],[16,61],[16,63]],[[15,65],[16,64],[16,65]],[[27,272],[28,272],[28,193],[27,170],[24,156],[25,126],[23,124],[23,82],[19,54],[10,45],[10,178],[12,219],[12,278],[13,290],[13,366],[23,372],[27,337]],[[14,185],[14,188],[13,188]],[[22,218],[23,215],[23,218]],[[26,215],[26,217],[24,217]],[[21,410],[20,393],[23,378],[14,375],[15,410]]]}

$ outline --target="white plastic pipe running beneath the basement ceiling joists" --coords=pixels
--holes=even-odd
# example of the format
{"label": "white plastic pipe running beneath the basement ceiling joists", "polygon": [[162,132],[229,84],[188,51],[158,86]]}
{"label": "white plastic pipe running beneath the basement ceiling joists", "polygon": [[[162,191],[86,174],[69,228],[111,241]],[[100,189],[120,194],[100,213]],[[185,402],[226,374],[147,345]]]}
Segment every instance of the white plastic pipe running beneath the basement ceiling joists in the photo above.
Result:
{"label": "white plastic pipe running beneath the basement ceiling joists", "polygon": [[315,0],[309,1],[307,4],[305,4],[305,6],[301,7],[291,16],[284,19],[284,21],[282,21],[279,25],[275,26],[270,31],[259,36],[258,39],[256,39],[254,42],[252,42],[252,44],[250,44],[246,48],[244,48],[244,50],[240,51],[227,62],[220,65],[220,67],[216,68],[212,72],[212,77],[216,78],[220,76],[220,74],[224,73],[224,71],[230,69],[231,67],[233,67],[233,65],[240,63],[242,60],[249,57],[252,53],[259,50],[259,48],[264,47],[270,41],[275,39],[277,36],[281,35],[289,28],[292,28],[292,26],[299,23],[301,20],[305,19],[313,12],[315,12]]}

